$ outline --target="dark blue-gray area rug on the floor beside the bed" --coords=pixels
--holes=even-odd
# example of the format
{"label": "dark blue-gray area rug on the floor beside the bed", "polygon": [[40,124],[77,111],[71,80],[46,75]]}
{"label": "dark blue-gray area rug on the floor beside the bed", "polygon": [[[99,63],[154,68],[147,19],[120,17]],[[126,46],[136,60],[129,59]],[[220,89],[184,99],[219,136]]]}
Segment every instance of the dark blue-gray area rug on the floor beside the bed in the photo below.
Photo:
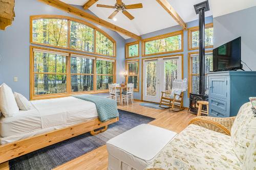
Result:
{"label": "dark blue-gray area rug on the floor beside the bed", "polygon": [[109,139],[138,125],[147,124],[155,118],[118,110],[119,122],[109,125],[108,130],[92,136],[85,133],[53,144],[9,161],[10,169],[53,169],[63,163],[93,151],[106,144]]}

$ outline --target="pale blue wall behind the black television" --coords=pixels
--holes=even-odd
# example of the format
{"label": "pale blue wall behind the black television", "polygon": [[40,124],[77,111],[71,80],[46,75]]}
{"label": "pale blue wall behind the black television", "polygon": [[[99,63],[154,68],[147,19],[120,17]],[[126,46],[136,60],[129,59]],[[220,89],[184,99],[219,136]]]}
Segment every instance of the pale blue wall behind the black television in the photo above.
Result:
{"label": "pale blue wall behind the black television", "polygon": [[[242,61],[256,70],[256,7],[214,18],[214,47],[241,36]],[[245,70],[249,68],[243,64]]]}

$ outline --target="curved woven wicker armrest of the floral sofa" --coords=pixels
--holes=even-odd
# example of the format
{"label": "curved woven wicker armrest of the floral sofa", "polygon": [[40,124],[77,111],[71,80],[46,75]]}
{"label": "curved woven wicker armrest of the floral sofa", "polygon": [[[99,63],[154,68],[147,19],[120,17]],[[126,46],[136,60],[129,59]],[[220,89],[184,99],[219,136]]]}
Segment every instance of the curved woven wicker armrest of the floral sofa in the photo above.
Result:
{"label": "curved woven wicker armrest of the floral sofa", "polygon": [[189,125],[198,125],[209,130],[230,136],[230,130],[235,118],[236,117],[219,118],[209,116],[198,116],[190,120]]}

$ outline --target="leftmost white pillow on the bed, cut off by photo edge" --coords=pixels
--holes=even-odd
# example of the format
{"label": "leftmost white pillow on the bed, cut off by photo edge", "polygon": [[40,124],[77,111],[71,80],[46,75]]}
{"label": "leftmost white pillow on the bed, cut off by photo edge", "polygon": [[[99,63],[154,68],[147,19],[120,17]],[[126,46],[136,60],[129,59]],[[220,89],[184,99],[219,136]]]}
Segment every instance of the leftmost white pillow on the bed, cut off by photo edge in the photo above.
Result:
{"label": "leftmost white pillow on the bed, cut off by photo edge", "polygon": [[0,86],[0,111],[5,117],[11,117],[18,110],[12,89],[3,83]]}

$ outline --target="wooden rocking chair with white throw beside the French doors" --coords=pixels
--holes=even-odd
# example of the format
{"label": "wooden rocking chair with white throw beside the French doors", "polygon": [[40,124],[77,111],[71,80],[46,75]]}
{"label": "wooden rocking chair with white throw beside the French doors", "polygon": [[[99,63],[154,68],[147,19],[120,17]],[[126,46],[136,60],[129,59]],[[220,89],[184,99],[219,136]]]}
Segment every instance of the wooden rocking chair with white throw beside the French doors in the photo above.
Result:
{"label": "wooden rocking chair with white throw beside the French doors", "polygon": [[[179,90],[179,94],[177,94],[175,91]],[[183,96],[184,96],[184,91],[187,89],[187,79],[184,80],[174,80],[173,82],[173,88],[172,88],[172,93],[164,92],[162,91],[161,95],[161,100],[160,100],[160,105],[159,107],[168,106],[168,108],[179,108],[179,110],[174,110],[174,111],[181,111],[184,109],[183,107]],[[169,95],[169,97],[165,95]]]}

